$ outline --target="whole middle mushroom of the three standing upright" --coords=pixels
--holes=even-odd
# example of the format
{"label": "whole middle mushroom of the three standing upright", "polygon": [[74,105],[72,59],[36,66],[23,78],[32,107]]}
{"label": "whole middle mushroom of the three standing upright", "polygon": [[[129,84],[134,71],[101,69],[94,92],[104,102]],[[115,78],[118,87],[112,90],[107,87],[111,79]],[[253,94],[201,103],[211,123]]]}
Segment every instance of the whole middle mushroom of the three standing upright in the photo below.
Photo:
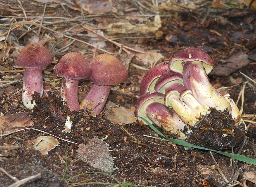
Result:
{"label": "whole middle mushroom of the three standing upright", "polygon": [[77,91],[80,79],[88,78],[92,72],[89,62],[78,52],[65,54],[55,66],[55,73],[62,79],[61,97],[71,111],[79,111]]}

